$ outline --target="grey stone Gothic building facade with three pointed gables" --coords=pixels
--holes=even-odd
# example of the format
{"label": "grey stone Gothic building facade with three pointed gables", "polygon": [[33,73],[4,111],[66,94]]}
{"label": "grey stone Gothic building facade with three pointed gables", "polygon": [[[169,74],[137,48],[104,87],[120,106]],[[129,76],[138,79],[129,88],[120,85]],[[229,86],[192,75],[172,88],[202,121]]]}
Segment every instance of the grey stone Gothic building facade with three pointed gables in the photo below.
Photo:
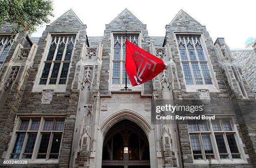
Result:
{"label": "grey stone Gothic building facade with three pointed gables", "polygon": [[[192,168],[209,157],[214,167],[256,167],[254,95],[223,38],[213,43],[183,10],[165,37],[148,36],[127,9],[102,37],[86,28],[72,10],[39,40],[0,28],[2,167]],[[128,91],[125,37],[166,64]],[[216,118],[151,124],[161,99],[207,101]]]}

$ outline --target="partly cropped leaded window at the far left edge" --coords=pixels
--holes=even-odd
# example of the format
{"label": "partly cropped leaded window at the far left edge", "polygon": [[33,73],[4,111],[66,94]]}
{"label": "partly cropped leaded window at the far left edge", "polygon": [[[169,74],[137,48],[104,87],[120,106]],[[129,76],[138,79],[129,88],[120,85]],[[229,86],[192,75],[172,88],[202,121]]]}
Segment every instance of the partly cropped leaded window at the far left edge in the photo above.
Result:
{"label": "partly cropped leaded window at the far left edge", "polygon": [[12,45],[10,36],[0,36],[0,69]]}

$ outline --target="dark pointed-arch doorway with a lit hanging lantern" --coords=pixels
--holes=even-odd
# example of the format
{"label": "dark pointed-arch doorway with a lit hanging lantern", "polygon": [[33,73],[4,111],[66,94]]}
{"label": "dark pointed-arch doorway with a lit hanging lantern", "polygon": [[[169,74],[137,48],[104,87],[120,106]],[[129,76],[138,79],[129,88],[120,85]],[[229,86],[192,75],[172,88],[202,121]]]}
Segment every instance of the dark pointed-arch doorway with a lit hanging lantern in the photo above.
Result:
{"label": "dark pointed-arch doorway with a lit hanging lantern", "polygon": [[102,168],[150,168],[148,138],[136,123],[123,120],[106,134]]}

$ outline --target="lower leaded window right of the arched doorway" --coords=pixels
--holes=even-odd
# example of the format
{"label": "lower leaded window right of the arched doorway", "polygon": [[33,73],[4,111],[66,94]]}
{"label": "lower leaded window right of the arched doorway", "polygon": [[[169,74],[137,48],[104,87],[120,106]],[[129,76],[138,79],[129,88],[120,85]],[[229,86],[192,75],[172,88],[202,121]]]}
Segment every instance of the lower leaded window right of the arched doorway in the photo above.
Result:
{"label": "lower leaded window right of the arched doorway", "polygon": [[[192,153],[195,160],[241,158],[232,120],[187,121]],[[213,145],[215,144],[215,145]],[[214,149],[213,147],[216,146]],[[229,150],[228,150],[229,149]]]}

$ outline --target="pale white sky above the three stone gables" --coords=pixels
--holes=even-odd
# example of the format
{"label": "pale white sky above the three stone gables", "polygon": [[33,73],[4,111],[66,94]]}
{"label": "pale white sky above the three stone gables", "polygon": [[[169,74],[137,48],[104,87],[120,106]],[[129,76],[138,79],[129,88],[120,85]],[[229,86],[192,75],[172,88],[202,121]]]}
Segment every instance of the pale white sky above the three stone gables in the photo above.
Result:
{"label": "pale white sky above the three stone gables", "polygon": [[[212,37],[224,37],[233,48],[244,48],[248,37],[256,37],[256,0],[53,0],[51,22],[72,9],[87,25],[87,36],[102,36],[109,24],[125,8],[147,25],[149,36],[165,36],[165,26],[184,10],[205,25]],[[47,24],[48,25],[48,24]],[[32,37],[41,37],[46,24]]]}

